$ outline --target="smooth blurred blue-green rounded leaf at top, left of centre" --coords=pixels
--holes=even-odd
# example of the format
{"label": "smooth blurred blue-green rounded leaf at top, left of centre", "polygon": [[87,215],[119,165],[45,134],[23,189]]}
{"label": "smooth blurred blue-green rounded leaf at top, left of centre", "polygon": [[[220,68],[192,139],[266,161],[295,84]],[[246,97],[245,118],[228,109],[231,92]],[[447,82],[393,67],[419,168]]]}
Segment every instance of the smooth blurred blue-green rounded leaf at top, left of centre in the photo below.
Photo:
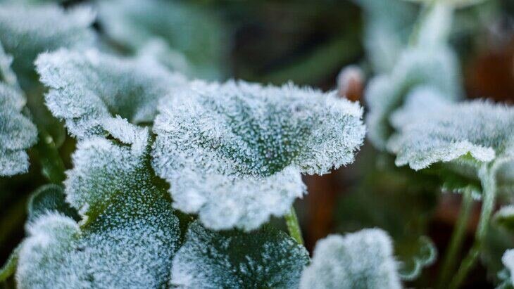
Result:
{"label": "smooth blurred blue-green rounded leaf at top, left of centre", "polygon": [[[219,76],[225,45],[222,23],[201,6],[164,0],[111,0],[98,1],[98,9],[102,28],[120,44],[137,53],[157,48],[154,56],[161,63],[195,77]],[[181,55],[189,65],[184,65]]]}

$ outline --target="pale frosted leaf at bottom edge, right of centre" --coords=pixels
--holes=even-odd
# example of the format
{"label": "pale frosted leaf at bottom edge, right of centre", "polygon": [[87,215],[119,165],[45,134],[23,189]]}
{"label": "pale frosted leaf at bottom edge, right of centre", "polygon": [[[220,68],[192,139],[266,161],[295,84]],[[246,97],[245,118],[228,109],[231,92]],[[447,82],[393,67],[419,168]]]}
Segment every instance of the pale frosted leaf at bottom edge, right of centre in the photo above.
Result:
{"label": "pale frosted leaf at bottom edge, right of centre", "polygon": [[380,229],[364,229],[318,241],[301,289],[400,289],[391,238]]}

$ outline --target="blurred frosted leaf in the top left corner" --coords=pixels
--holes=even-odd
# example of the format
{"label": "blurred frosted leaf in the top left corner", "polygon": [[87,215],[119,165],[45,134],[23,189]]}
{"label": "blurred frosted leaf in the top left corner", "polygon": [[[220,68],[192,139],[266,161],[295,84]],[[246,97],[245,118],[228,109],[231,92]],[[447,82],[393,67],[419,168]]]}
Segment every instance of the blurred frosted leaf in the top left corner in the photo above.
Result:
{"label": "blurred frosted leaf in the top left corner", "polygon": [[0,6],[0,41],[14,58],[13,69],[21,76],[32,75],[36,56],[61,47],[91,46],[94,21],[91,8],[63,10],[56,4]]}

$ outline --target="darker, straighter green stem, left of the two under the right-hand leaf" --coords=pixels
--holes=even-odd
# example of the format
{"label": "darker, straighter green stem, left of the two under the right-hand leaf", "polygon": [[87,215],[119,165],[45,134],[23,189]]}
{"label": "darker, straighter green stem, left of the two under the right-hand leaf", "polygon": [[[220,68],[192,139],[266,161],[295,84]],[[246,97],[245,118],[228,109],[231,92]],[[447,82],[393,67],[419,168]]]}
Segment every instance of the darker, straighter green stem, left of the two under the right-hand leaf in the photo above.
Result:
{"label": "darker, straighter green stem, left of the two under the right-hand leaf", "polygon": [[463,192],[463,200],[460,205],[459,217],[457,219],[456,226],[453,229],[453,233],[451,234],[450,245],[444,256],[436,288],[444,288],[445,285],[448,284],[449,277],[455,268],[457,255],[462,249],[466,226],[468,225],[468,219],[472,208],[473,198],[471,194],[472,191],[470,188],[467,188]]}

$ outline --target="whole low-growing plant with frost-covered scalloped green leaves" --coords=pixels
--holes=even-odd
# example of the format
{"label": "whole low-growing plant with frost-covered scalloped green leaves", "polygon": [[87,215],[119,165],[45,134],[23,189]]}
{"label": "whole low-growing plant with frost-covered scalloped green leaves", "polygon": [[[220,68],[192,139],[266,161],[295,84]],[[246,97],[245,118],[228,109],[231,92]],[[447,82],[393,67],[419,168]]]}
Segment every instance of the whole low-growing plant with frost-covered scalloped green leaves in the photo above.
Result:
{"label": "whole low-growing plant with frost-covered scalloped green leaves", "polygon": [[[369,18],[365,49],[377,74],[365,89],[365,120],[361,105],[337,91],[193,79],[220,77],[225,41],[222,21],[196,6],[0,4],[0,175],[27,172],[30,149],[49,183],[27,200],[26,237],[0,281],[401,288],[433,264],[430,238],[416,236],[403,258],[387,231],[363,229],[319,240],[310,257],[293,207],[308,193],[302,175],[350,165],[368,131],[396,166],[463,194],[436,284],[462,285],[487,251],[489,228],[514,230],[512,206],[494,214],[514,188],[514,110],[462,101],[449,45],[453,11],[479,1],[417,1],[415,23],[415,8],[401,1],[391,4],[396,19],[379,16],[383,3],[356,2]],[[410,36],[384,38],[406,23]],[[76,147],[65,170],[58,147],[69,139]],[[457,266],[474,200],[482,200],[475,243]],[[496,282],[507,288],[513,249],[498,262],[505,268]]]}

